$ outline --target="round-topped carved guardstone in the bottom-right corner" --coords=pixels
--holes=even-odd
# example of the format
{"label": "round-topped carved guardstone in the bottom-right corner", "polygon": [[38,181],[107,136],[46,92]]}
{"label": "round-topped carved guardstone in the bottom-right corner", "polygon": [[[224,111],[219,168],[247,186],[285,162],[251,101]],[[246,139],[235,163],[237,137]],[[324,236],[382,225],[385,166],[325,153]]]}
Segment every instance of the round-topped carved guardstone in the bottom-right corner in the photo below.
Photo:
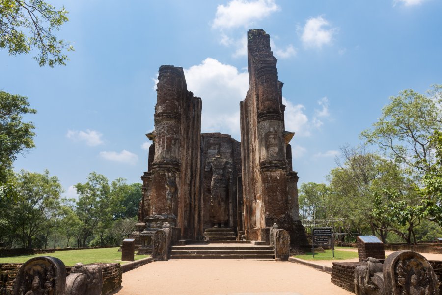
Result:
{"label": "round-topped carved guardstone in the bottom-right corner", "polygon": [[388,295],[439,295],[439,285],[427,259],[414,251],[388,255],[383,266]]}

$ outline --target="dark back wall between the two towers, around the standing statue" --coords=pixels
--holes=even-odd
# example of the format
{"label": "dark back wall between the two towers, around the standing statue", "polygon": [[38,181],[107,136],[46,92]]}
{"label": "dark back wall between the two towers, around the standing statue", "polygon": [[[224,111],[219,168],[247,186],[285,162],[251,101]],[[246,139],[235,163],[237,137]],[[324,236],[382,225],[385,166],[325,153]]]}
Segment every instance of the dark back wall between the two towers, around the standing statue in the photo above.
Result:
{"label": "dark back wall between the two towers, around the standing statue", "polygon": [[[238,227],[238,175],[241,173],[241,145],[228,134],[201,134],[201,212],[198,234],[214,226],[211,220],[211,182],[220,177],[226,189],[226,227]],[[214,175],[216,174],[216,175]],[[216,178],[218,179],[218,178]],[[241,191],[240,191],[241,193]]]}

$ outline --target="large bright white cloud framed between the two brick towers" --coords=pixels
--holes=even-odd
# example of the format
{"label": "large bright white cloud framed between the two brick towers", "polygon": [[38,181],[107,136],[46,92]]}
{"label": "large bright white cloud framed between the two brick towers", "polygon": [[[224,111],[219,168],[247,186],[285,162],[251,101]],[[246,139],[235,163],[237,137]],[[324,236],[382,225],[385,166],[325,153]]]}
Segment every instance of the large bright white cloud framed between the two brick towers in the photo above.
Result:
{"label": "large bright white cloud framed between the two brick towers", "polygon": [[249,89],[249,74],[207,58],[184,69],[187,88],[203,102],[201,132],[223,132],[240,139],[239,103]]}

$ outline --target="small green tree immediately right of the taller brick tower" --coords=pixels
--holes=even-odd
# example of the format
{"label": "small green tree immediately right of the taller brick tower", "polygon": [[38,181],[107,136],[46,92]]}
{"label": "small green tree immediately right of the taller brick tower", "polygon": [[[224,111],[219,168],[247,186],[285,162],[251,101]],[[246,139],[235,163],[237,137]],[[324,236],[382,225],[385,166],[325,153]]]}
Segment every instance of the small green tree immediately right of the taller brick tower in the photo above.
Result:
{"label": "small green tree immediately right of the taller brick tower", "polygon": [[323,183],[301,184],[299,190],[299,214],[302,219],[331,218],[329,211],[329,188]]}

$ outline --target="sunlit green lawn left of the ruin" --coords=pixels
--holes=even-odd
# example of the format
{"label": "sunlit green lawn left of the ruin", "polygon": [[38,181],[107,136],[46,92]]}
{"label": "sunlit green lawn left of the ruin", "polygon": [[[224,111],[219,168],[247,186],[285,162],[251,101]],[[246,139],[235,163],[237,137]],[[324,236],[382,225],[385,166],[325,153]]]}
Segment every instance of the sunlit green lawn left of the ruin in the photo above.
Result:
{"label": "sunlit green lawn left of the ruin", "polygon": [[[102,249],[86,249],[86,250],[69,250],[69,251],[55,251],[54,253],[23,255],[14,257],[0,257],[0,263],[18,262],[23,263],[28,259],[37,256],[52,256],[63,261],[65,266],[74,266],[77,262],[84,264],[105,262],[105,263],[120,263],[125,264],[129,261],[121,260],[121,252],[118,252],[119,247],[102,248]],[[150,255],[135,255],[135,260],[149,257]]]}

